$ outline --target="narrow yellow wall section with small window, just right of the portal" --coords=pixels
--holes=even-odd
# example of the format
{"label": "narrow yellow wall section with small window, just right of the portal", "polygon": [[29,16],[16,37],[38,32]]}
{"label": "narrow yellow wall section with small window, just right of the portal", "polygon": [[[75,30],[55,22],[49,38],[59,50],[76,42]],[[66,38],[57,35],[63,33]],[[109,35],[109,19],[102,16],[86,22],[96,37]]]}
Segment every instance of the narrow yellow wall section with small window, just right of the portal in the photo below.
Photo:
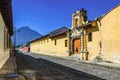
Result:
{"label": "narrow yellow wall section with small window, just right of the portal", "polygon": [[[92,33],[92,41],[88,41],[88,34]],[[100,32],[99,27],[87,28],[87,50],[89,52],[89,60],[94,60],[100,52]]]}

